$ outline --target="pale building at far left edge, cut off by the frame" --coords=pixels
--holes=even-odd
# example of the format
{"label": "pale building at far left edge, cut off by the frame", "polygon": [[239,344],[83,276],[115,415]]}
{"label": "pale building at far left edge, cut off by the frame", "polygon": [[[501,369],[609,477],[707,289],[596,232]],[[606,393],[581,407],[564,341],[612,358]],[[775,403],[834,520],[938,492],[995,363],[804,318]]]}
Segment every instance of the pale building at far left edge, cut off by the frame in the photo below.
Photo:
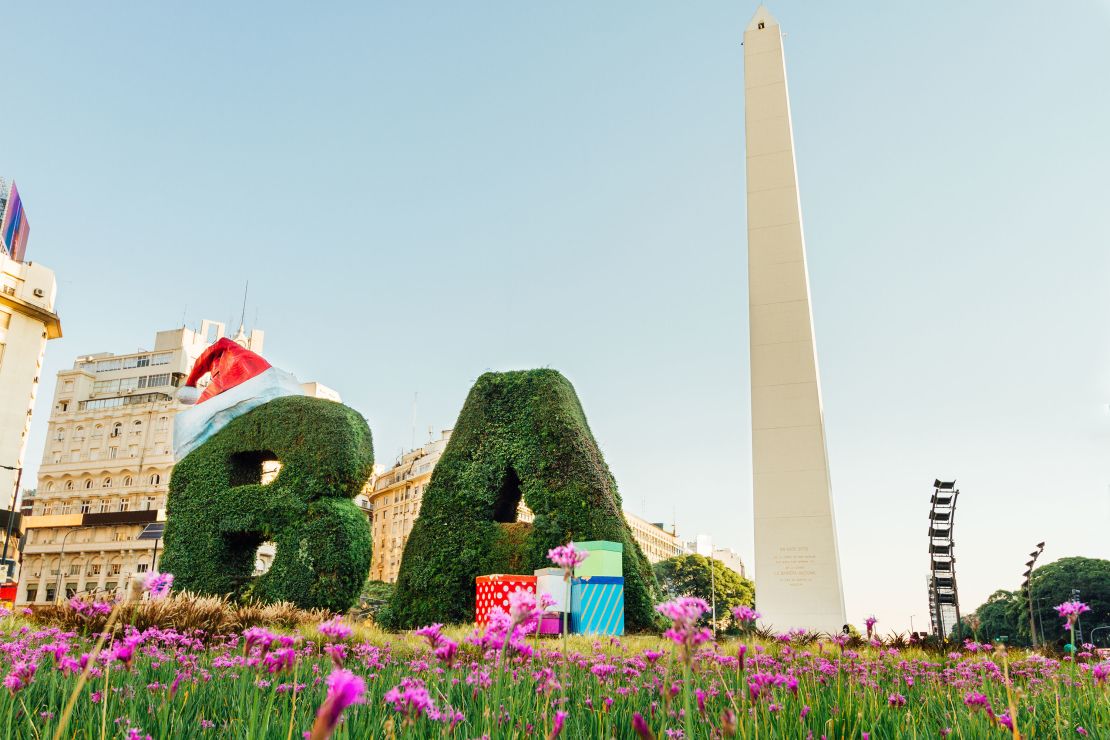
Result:
{"label": "pale building at far left edge, cut off by the frame", "polygon": [[[27,434],[39,391],[47,342],[62,335],[54,313],[54,274],[42,265],[17,262],[0,250],[0,541],[8,539],[7,568],[0,580],[14,577],[19,533],[6,537],[8,509],[22,480]],[[14,519],[14,518],[13,518]],[[14,520],[11,523],[16,526]]]}

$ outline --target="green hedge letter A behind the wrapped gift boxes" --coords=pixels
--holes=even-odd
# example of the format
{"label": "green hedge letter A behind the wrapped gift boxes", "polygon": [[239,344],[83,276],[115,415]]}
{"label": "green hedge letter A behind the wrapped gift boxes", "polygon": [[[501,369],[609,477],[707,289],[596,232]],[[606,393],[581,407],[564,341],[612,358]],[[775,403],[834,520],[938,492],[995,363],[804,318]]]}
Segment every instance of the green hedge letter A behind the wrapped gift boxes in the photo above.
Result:
{"label": "green hedge letter A behind the wrapped gift boxes", "polygon": [[[521,499],[535,514],[516,523]],[[569,540],[624,544],[625,625],[655,620],[657,586],[569,382],[553,369],[486,373],[471,389],[405,546],[394,627],[474,617],[474,578],[548,567]]]}

